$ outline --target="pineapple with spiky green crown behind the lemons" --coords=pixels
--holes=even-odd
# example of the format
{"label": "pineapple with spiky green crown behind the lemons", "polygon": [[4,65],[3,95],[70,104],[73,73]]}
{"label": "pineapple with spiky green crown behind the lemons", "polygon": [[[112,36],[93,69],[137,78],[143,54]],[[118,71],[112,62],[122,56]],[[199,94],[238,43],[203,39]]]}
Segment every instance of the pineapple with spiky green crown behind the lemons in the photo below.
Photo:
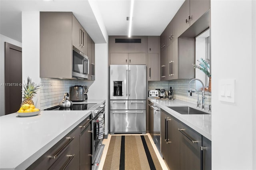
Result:
{"label": "pineapple with spiky green crown behind the lemons", "polygon": [[23,85],[23,101],[20,106],[24,104],[34,105],[34,101],[32,100],[33,97],[36,94],[36,91],[38,91],[39,86],[35,86],[35,83],[31,81],[31,79],[28,77],[27,85]]}

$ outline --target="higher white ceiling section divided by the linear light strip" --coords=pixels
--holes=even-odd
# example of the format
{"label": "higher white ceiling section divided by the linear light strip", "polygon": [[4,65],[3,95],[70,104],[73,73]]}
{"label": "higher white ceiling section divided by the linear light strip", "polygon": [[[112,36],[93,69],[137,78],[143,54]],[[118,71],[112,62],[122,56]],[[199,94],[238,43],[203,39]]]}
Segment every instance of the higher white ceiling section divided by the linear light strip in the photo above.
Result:
{"label": "higher white ceiling section divided by the linear light strip", "polygon": [[[133,36],[160,36],[184,0],[134,0]],[[97,0],[109,36],[127,36],[130,0]]]}

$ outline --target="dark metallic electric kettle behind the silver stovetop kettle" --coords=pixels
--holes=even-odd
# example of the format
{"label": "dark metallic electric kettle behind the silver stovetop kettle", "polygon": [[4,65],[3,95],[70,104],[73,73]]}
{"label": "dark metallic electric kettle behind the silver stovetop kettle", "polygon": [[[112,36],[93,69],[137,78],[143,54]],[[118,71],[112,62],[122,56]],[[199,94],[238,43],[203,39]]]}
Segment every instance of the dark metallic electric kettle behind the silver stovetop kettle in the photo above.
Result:
{"label": "dark metallic electric kettle behind the silver stovetop kettle", "polygon": [[73,102],[80,102],[87,100],[85,86],[75,85],[70,89],[70,100]]}

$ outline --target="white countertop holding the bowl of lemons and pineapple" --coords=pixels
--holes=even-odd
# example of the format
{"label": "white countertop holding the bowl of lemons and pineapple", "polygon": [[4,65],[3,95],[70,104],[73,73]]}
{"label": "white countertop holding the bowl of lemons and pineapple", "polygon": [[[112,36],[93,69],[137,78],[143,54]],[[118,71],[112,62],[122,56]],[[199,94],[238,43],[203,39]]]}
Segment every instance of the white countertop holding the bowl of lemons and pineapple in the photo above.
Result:
{"label": "white countertop holding the bowl of lemons and pineapple", "polygon": [[34,117],[16,113],[0,117],[0,169],[24,170],[91,111],[41,111]]}

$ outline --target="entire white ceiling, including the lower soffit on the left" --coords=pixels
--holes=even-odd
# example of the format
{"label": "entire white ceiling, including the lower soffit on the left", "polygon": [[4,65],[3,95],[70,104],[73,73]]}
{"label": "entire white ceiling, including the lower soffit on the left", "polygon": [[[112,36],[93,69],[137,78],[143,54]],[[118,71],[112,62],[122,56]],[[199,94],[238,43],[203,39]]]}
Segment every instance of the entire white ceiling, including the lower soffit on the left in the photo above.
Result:
{"label": "entire white ceiling, including the lower soffit on the left", "polygon": [[[109,36],[128,35],[130,0],[93,0]],[[135,0],[132,36],[160,36],[184,0]],[[88,0],[0,0],[0,34],[22,42],[22,11],[73,12],[95,43],[105,39]]]}

